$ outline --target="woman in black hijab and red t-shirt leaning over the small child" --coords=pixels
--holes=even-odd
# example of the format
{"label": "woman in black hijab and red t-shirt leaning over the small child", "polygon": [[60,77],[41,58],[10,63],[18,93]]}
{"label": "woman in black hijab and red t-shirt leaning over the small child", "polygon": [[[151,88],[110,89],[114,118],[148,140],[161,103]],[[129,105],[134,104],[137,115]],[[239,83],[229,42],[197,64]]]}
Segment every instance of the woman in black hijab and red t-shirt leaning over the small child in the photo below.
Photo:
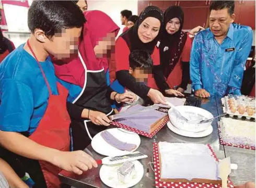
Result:
{"label": "woman in black hijab and red t-shirt leaning over the small child", "polygon": [[[182,93],[169,89],[164,75],[159,69],[160,57],[157,43],[163,23],[164,15],[158,7],[146,7],[134,26],[124,32],[115,44],[115,70],[121,85],[143,99],[149,97],[154,103],[166,104],[164,96],[157,91],[158,88],[166,94],[182,95]],[[136,49],[147,51],[153,60],[154,78],[148,74],[148,79],[144,83],[137,83],[135,78],[129,74],[129,55]]]}

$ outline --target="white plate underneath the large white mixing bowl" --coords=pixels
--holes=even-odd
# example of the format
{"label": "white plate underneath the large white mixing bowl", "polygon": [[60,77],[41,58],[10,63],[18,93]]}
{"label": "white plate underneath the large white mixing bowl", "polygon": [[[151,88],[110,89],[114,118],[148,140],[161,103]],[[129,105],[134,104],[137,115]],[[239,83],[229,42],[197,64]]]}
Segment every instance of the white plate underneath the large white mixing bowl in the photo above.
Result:
{"label": "white plate underneath the large white mixing bowl", "polygon": [[205,131],[202,132],[197,132],[197,133],[193,133],[193,132],[188,132],[188,131],[183,131],[183,130],[179,130],[178,128],[174,127],[171,122],[169,121],[167,123],[167,127],[174,133],[179,134],[181,136],[186,136],[186,137],[205,137],[208,136],[210,134],[212,134],[213,132],[213,127],[209,126],[208,129],[206,129]]}

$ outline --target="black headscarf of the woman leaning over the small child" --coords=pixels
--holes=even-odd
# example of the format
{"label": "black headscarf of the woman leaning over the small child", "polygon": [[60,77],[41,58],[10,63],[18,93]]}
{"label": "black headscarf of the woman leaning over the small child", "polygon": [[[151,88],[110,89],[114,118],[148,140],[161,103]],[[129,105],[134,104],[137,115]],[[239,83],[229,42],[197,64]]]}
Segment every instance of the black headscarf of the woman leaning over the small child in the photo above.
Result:
{"label": "black headscarf of the woman leaning over the small child", "polygon": [[[153,41],[149,43],[143,43],[138,37],[138,27],[148,17],[154,17],[160,21],[161,23],[160,30],[158,35],[155,37]],[[134,26],[129,30],[125,31],[121,35],[121,37],[123,37],[123,39],[126,41],[131,52],[135,49],[143,49],[147,51],[149,54],[152,54],[157,42],[160,39],[163,23],[164,23],[164,14],[162,13],[162,11],[158,7],[148,6],[141,12]]]}

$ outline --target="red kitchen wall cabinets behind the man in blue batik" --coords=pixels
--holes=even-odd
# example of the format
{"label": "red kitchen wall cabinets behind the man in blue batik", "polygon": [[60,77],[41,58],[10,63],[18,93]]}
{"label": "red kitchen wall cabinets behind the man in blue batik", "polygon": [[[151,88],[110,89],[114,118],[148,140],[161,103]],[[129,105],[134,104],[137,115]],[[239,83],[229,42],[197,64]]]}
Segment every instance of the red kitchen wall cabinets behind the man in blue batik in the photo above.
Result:
{"label": "red kitchen wall cabinets behind the man in blue batik", "polygon": [[[184,11],[183,29],[206,26],[212,0],[205,1],[138,1],[138,14],[154,5],[165,11],[169,6],[181,6]],[[235,1],[235,22],[255,29],[255,1]]]}

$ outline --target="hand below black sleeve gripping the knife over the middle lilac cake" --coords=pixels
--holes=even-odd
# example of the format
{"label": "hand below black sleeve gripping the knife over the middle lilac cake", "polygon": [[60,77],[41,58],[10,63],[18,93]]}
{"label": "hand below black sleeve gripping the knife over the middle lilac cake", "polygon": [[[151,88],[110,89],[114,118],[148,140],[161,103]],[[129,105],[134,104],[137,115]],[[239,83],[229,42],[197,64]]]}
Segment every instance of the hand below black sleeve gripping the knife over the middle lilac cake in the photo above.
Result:
{"label": "hand below black sleeve gripping the knife over the middle lilac cake", "polygon": [[106,114],[100,111],[89,111],[89,119],[92,123],[98,126],[110,126],[111,120],[106,116]]}

